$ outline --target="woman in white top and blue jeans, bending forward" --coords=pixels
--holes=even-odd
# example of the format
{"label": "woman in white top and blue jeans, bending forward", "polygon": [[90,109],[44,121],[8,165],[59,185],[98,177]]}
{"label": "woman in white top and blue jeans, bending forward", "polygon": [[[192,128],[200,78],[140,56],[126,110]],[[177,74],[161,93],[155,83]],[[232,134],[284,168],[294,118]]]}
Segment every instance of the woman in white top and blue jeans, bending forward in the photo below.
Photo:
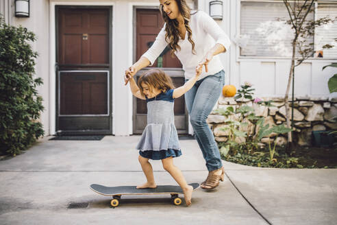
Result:
{"label": "woman in white top and blue jeans, bending forward", "polygon": [[223,180],[224,169],[219,148],[206,119],[225,83],[223,64],[216,55],[227,51],[230,40],[205,12],[190,14],[186,0],[160,0],[160,12],[165,21],[164,27],[151,48],[125,71],[125,84],[129,80],[128,75],[133,76],[140,69],[153,64],[167,45],[171,48],[171,54],[174,53],[182,62],[185,82],[195,75],[196,69],[205,66],[198,81],[185,94],[185,102],[209,171],[201,187],[213,189],[219,185],[219,180]]}

